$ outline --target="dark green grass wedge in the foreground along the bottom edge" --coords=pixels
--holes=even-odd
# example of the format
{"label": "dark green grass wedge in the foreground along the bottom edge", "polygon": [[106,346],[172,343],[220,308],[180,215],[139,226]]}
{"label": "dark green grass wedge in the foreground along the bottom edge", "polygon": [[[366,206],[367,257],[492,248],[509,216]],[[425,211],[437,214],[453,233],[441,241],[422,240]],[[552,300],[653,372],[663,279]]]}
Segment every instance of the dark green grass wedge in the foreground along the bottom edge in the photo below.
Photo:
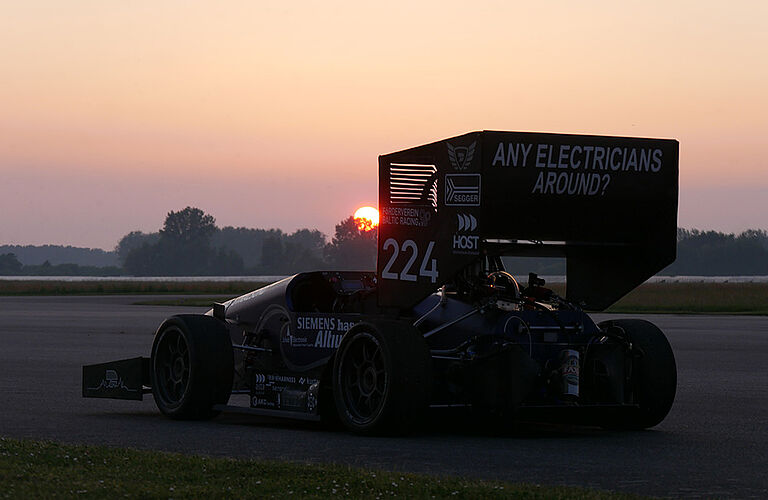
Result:
{"label": "dark green grass wedge in the foreground along the bottom edge", "polygon": [[9,438],[0,438],[0,487],[6,498],[641,498],[574,487]]}

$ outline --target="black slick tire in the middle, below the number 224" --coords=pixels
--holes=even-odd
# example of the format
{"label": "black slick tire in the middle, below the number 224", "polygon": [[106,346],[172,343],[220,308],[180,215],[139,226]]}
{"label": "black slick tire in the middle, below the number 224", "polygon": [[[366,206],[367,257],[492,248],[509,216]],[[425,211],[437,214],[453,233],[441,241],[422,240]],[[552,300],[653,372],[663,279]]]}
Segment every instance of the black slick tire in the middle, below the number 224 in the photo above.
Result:
{"label": "black slick tire in the middle, below the number 224", "polygon": [[333,361],[333,396],[342,424],[365,435],[406,434],[422,419],[431,388],[431,358],[407,323],[359,323]]}

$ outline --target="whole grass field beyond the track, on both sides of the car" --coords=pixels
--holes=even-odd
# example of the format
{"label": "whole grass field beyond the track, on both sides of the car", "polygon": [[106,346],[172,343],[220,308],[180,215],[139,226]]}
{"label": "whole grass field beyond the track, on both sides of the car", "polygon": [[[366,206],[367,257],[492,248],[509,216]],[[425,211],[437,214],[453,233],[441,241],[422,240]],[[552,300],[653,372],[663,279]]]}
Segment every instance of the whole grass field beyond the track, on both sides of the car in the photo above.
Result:
{"label": "whole grass field beyond the track, on both sides of the car", "polygon": [[[180,299],[151,299],[137,303],[207,306],[266,284],[244,281],[0,281],[0,295],[197,295]],[[557,293],[563,293],[563,285],[555,284],[553,289]],[[212,295],[216,297],[211,297]],[[646,283],[611,306],[608,312],[766,315],[768,283]]]}

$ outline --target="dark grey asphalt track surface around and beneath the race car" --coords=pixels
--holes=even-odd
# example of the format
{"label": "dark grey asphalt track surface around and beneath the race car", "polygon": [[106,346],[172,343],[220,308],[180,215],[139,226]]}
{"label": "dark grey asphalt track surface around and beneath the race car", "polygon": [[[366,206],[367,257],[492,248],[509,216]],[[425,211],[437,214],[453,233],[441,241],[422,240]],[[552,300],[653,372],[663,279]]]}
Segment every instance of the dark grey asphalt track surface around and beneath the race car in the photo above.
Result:
{"label": "dark grey asphalt track surface around and beneath the race car", "polygon": [[518,424],[497,434],[437,415],[411,436],[368,438],[242,415],[173,421],[151,396],[82,399],[81,365],[148,355],[163,318],[200,310],[136,300],[0,297],[0,435],[658,496],[768,497],[767,317],[646,316],[667,333],[679,379],[671,413],[652,430]]}

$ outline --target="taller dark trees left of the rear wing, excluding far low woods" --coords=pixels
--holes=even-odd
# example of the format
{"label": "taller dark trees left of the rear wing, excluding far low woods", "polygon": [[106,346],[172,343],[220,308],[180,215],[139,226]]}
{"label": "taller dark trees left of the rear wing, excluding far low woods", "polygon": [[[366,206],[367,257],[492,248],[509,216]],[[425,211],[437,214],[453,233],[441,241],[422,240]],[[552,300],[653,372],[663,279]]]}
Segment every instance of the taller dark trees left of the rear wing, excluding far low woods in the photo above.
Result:
{"label": "taller dark trees left of the rear wing, excluding far low woods", "polygon": [[350,216],[331,241],[316,229],[226,226],[199,208],[171,211],[156,233],[134,231],[117,244],[118,260],[135,276],[283,275],[314,269],[376,267],[376,231]]}

